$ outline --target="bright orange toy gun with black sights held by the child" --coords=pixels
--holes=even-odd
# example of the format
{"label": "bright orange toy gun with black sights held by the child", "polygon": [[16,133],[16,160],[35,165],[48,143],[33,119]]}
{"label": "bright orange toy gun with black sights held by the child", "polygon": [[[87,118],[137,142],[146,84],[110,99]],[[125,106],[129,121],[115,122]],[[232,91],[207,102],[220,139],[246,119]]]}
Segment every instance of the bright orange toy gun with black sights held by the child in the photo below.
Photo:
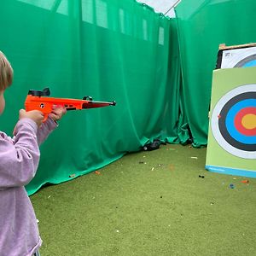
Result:
{"label": "bright orange toy gun with black sights held by the child", "polygon": [[61,106],[67,110],[77,110],[85,108],[102,108],[115,106],[116,102],[96,102],[90,96],[84,96],[83,100],[64,99],[48,97],[50,95],[49,88],[44,90],[29,90],[26,96],[26,111],[39,110],[44,113],[44,121],[52,112],[53,106]]}

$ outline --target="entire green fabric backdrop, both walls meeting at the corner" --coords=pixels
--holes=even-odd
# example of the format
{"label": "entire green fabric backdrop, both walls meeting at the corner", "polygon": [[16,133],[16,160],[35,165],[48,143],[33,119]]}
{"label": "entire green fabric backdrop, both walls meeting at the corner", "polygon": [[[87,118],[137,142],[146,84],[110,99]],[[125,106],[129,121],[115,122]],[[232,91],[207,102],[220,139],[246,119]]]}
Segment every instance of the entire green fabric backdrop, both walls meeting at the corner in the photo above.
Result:
{"label": "entire green fabric backdrop, both walls meeting at the corner", "polygon": [[0,49],[15,69],[2,131],[12,133],[30,89],[117,102],[67,113],[41,146],[30,195],[155,137],[206,145],[218,45],[256,41],[254,0],[183,0],[172,20],[134,0],[3,0],[0,8]]}

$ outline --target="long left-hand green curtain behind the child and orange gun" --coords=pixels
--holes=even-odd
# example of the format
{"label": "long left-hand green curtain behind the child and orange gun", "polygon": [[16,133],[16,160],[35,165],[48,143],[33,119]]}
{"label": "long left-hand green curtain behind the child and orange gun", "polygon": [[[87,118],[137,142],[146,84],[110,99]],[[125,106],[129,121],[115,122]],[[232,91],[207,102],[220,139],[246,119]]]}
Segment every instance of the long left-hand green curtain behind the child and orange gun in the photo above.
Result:
{"label": "long left-hand green curtain behind the child and orange gun", "polygon": [[11,135],[27,91],[117,102],[68,112],[41,146],[29,195],[137,151],[183,141],[176,20],[128,0],[2,0],[0,49],[15,70],[1,130]]}

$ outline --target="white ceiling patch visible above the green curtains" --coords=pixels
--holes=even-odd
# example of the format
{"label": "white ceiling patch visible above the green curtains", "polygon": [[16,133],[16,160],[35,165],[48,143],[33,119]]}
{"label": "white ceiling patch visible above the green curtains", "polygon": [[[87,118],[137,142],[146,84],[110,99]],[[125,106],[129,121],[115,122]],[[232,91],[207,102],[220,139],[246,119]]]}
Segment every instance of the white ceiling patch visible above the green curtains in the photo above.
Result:
{"label": "white ceiling patch visible above the green curtains", "polygon": [[146,3],[148,6],[154,8],[156,13],[162,13],[169,17],[174,17],[174,7],[181,0],[137,0],[139,3]]}

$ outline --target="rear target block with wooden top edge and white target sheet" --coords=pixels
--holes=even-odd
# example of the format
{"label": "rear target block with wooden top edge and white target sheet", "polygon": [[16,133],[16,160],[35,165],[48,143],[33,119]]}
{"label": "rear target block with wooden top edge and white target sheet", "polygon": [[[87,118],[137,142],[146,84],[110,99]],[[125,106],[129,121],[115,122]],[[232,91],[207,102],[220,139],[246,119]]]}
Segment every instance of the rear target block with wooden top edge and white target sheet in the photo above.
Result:
{"label": "rear target block with wooden top edge and white target sheet", "polygon": [[256,44],[242,44],[236,46],[220,44],[216,67],[256,67]]}

